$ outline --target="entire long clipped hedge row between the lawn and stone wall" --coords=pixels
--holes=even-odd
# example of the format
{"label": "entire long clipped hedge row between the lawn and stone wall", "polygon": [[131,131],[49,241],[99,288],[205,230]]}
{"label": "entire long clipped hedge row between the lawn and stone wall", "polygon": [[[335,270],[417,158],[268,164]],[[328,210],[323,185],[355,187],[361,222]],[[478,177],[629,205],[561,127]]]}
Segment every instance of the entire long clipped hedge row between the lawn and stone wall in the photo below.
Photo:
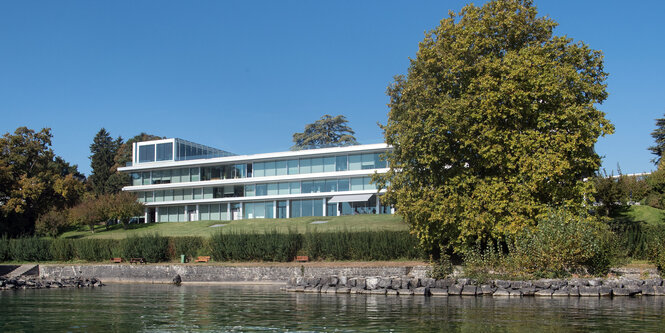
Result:
{"label": "entire long clipped hedge row between the lawn and stone wall", "polygon": [[210,255],[215,261],[291,261],[296,255],[312,260],[423,259],[418,242],[408,232],[328,232],[214,234],[203,237],[163,237],[157,234],[114,239],[0,238],[2,261],[104,262],[110,258],[145,258],[148,262],[192,259]]}

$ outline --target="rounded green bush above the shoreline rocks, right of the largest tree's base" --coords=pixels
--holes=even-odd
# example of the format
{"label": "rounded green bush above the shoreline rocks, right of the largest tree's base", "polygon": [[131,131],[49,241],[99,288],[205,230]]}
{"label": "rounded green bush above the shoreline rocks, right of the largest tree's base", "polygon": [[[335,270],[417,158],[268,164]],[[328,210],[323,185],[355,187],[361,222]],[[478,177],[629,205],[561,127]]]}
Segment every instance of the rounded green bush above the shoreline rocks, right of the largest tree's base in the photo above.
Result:
{"label": "rounded green bush above the shoreline rocks, right of the largest tree's base", "polygon": [[516,264],[536,277],[606,273],[616,255],[614,234],[593,217],[553,211],[516,238]]}

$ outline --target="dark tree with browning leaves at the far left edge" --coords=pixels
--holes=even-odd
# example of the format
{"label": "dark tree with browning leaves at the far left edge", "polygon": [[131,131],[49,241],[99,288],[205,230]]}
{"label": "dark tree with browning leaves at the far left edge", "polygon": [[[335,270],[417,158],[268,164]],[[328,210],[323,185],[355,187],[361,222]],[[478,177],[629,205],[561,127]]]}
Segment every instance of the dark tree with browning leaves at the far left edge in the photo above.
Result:
{"label": "dark tree with browning leaves at the far left edge", "polygon": [[83,195],[83,175],[55,155],[51,137],[48,128],[19,127],[0,138],[0,234],[30,234],[40,215]]}

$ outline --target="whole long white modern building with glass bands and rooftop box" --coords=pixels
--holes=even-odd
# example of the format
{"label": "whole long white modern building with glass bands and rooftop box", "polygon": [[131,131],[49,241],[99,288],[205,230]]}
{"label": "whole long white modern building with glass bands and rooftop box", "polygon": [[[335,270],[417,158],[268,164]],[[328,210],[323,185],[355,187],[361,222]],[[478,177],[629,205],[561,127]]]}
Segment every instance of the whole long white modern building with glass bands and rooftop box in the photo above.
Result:
{"label": "whole long white modern building with glass bands and rooftop box", "polygon": [[386,144],[235,155],[182,139],[134,143],[130,173],[146,222],[390,214],[370,182]]}

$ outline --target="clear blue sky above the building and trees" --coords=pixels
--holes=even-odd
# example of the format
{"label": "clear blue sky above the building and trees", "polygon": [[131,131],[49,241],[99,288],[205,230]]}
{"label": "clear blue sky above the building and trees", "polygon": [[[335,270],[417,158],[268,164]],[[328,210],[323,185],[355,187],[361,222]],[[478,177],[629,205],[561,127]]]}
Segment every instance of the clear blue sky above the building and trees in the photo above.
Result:
{"label": "clear blue sky above the building and trees", "polygon": [[[52,128],[53,147],[90,172],[105,127],[180,137],[235,153],[288,150],[323,114],[361,143],[382,141],[386,86],[425,30],[465,1],[0,2],[0,133]],[[558,35],[605,54],[616,133],[596,150],[624,173],[654,168],[665,113],[660,1],[536,1]]]}

